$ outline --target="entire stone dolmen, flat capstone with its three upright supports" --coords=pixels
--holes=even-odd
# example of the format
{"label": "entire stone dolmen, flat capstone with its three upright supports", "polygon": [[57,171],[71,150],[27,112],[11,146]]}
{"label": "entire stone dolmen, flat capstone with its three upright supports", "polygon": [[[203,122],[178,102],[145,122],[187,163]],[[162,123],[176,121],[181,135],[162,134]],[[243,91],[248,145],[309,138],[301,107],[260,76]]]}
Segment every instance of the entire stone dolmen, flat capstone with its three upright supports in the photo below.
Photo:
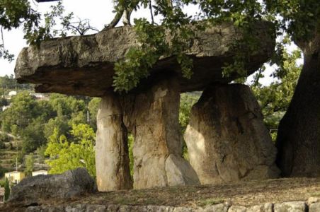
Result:
{"label": "entire stone dolmen, flat capstone with its three upright supports", "polygon": [[[253,34],[259,48],[248,52],[247,75],[270,59],[275,47],[272,25],[261,22]],[[96,182],[101,192],[277,177],[276,149],[248,86],[232,84],[236,70],[232,44],[241,37],[225,23],[196,31],[186,52],[193,76],[184,78],[176,59],[161,57],[148,78],[128,93],[113,88],[113,67],[130,47],[139,45],[131,27],[95,35],[61,37],[22,49],[16,61],[19,83],[35,83],[39,93],[100,97],[96,132]],[[244,51],[247,51],[244,49]],[[178,124],[181,93],[204,90],[185,131],[190,161],[182,157]],[[127,134],[135,137],[133,182]]]}

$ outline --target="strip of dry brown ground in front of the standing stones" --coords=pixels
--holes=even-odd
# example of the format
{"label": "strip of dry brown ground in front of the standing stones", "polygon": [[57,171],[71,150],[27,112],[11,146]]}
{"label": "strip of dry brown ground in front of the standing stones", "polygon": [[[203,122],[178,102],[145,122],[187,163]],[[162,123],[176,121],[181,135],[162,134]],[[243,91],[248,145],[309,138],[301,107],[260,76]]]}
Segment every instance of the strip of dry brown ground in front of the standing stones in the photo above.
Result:
{"label": "strip of dry brown ground in front of the standing stones", "polygon": [[[251,206],[267,202],[307,201],[320,197],[320,178],[269,179],[187,187],[99,192],[75,199],[47,204],[119,204],[161,206],[207,206],[229,201],[234,205]],[[1,208],[0,208],[1,210]]]}

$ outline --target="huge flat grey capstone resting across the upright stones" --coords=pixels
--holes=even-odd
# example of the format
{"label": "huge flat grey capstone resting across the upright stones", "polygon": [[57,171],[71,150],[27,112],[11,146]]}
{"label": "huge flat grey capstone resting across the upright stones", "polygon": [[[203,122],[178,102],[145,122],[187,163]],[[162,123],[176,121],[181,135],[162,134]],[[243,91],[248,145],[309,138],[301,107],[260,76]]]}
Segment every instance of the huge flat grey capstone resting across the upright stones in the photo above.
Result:
{"label": "huge flat grey capstone resting across the upright stones", "polygon": [[[268,61],[275,46],[270,23],[257,23],[255,28],[253,33],[261,44],[258,51],[251,52],[247,58],[248,74]],[[241,37],[241,33],[232,24],[198,31],[187,52],[193,58],[194,67],[190,80],[183,78],[175,58],[164,57],[140,85],[172,74],[178,76],[181,92],[202,90],[215,82],[228,83],[239,77],[236,71],[228,78],[222,77],[222,66],[233,60],[231,45],[237,37]],[[112,87],[115,61],[123,59],[128,49],[137,45],[137,36],[131,27],[43,41],[40,47],[22,49],[16,61],[16,78],[19,83],[37,84],[35,90],[40,93],[101,96]]]}

